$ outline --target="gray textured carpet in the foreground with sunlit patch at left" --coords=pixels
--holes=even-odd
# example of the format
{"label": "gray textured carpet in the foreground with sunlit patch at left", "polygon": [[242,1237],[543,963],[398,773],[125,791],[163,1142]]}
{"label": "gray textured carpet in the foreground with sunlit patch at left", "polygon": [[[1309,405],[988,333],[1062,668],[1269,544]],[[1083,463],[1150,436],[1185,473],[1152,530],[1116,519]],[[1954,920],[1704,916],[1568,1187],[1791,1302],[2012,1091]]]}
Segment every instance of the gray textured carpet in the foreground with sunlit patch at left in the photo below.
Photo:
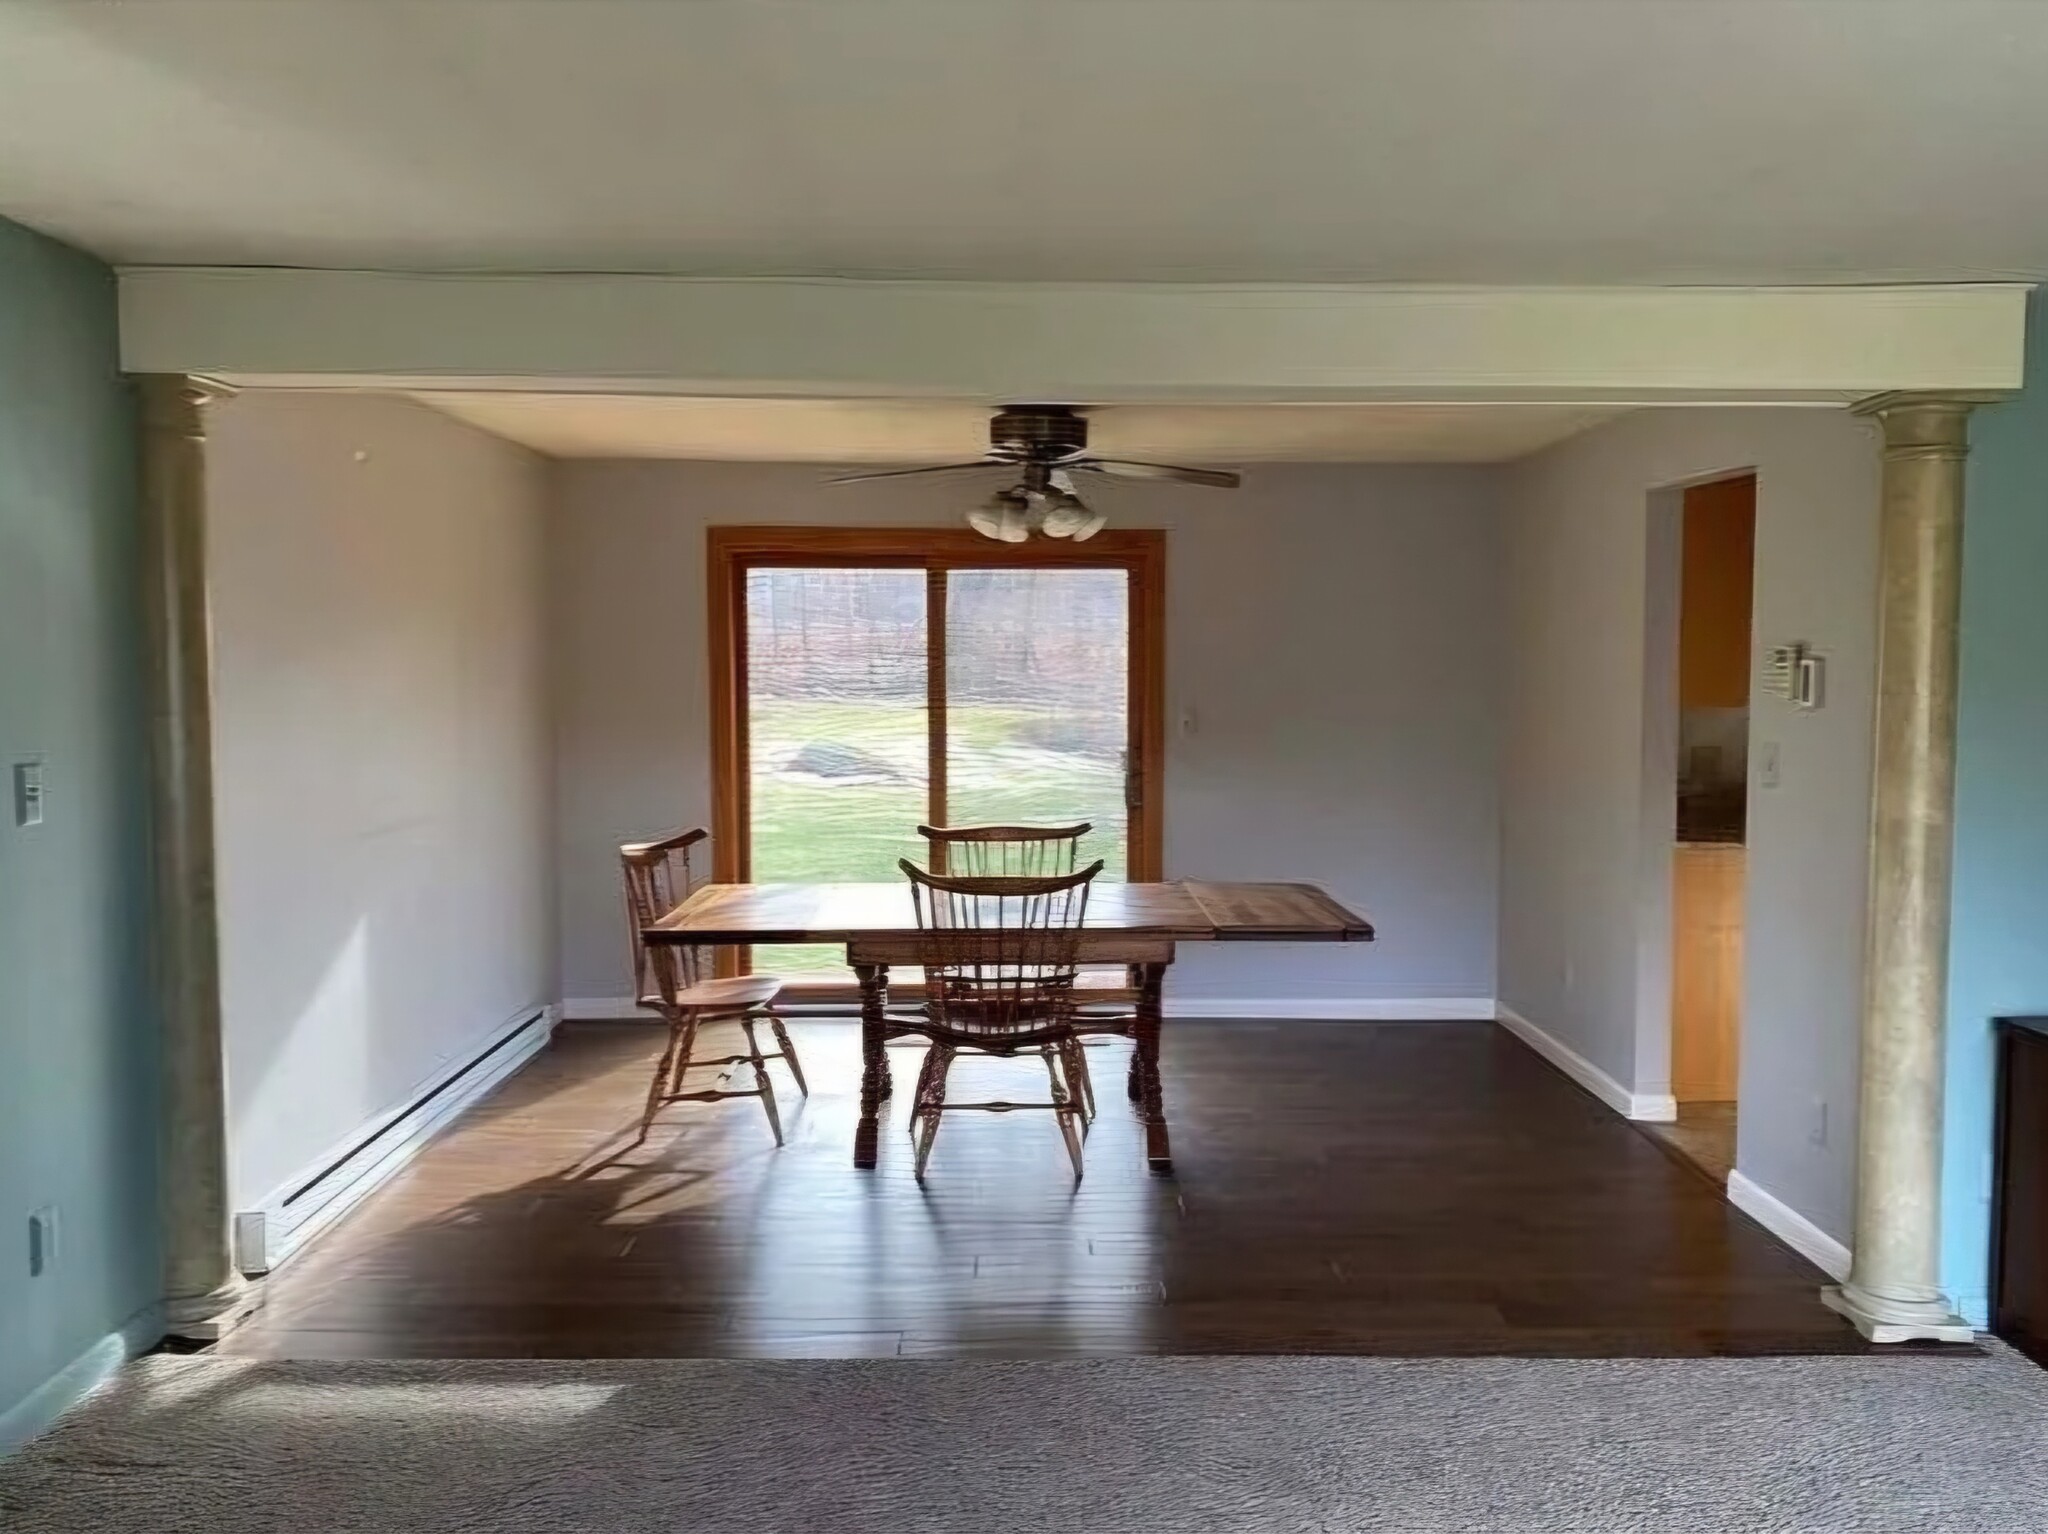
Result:
{"label": "gray textured carpet in the foreground with sunlit patch at left", "polygon": [[1776,1360],[154,1358],[23,1534],[2048,1528],[2048,1374]]}

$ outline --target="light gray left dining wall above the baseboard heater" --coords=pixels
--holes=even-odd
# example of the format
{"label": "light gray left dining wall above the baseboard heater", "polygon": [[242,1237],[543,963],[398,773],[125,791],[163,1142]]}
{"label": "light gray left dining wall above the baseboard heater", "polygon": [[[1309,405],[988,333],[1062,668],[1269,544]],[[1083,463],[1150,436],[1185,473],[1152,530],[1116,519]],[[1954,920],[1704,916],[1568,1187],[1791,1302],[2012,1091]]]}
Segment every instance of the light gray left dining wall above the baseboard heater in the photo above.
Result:
{"label": "light gray left dining wall above the baseboard heater", "polygon": [[555,995],[537,457],[403,399],[211,422],[238,1208]]}

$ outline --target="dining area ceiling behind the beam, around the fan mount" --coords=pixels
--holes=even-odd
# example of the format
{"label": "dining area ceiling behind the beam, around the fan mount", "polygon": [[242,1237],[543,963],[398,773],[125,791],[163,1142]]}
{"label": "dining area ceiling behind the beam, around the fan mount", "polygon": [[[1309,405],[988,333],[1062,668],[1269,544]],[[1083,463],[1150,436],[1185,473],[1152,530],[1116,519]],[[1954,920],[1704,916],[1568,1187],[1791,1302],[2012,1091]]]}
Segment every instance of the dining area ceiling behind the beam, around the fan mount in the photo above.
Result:
{"label": "dining area ceiling behind the beam, around the fan mount", "polygon": [[[989,444],[987,406],[664,395],[420,393],[561,459],[958,463]],[[1616,416],[1589,406],[1102,406],[1090,449],[1167,463],[1499,463]]]}

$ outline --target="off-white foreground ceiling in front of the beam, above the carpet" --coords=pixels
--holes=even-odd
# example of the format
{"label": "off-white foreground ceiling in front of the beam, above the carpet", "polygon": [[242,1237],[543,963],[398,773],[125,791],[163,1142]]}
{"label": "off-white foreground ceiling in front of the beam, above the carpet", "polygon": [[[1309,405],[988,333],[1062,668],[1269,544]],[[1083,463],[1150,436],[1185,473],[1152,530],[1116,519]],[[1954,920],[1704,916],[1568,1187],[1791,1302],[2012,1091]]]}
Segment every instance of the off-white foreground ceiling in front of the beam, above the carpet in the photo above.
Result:
{"label": "off-white foreground ceiling in front of the beam, above the carpet", "polygon": [[0,0],[127,262],[2048,274],[2048,0]]}

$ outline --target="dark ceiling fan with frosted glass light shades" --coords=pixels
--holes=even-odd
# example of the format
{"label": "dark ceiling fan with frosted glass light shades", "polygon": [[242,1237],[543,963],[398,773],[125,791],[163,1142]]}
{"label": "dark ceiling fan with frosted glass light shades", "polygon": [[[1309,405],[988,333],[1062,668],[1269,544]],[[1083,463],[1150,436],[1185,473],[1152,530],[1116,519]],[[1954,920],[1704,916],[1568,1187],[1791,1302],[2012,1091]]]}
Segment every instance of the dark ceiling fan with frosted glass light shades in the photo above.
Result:
{"label": "dark ceiling fan with frosted glass light shades", "polygon": [[1024,543],[1034,530],[1049,539],[1092,539],[1108,520],[1106,512],[1081,500],[1073,475],[1104,473],[1118,479],[1174,479],[1184,485],[1237,489],[1229,469],[1184,469],[1174,463],[1139,459],[1098,459],[1087,451],[1087,416],[1073,406],[1006,406],[989,418],[989,451],[975,463],[934,463],[924,469],[879,469],[842,473],[829,483],[901,479],[913,473],[961,473],[965,469],[1016,469],[1020,479],[997,489],[967,514],[967,524],[1001,543]]}

